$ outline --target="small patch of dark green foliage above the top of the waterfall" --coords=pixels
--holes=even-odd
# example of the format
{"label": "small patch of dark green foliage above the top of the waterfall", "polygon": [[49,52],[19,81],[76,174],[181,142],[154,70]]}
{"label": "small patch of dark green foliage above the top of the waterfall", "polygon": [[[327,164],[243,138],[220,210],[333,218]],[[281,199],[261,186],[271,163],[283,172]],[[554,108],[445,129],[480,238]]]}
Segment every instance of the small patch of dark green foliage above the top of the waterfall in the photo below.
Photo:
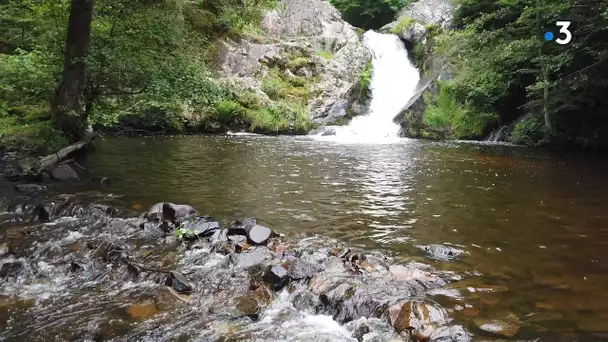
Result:
{"label": "small patch of dark green foliage above the top of the waterfall", "polygon": [[356,27],[377,30],[414,0],[330,0],[344,20]]}

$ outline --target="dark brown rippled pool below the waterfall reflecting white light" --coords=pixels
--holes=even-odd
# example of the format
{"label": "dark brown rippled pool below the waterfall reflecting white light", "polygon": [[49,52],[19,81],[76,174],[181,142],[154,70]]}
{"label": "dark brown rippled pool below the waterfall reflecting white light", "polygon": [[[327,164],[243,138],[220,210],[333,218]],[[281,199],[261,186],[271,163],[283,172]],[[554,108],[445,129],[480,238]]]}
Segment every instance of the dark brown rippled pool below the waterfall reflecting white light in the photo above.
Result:
{"label": "dark brown rippled pool below the waterfall reflecting white light", "polygon": [[468,297],[464,309],[452,304],[460,324],[515,315],[514,338],[608,340],[608,168],[598,158],[471,143],[189,136],[105,138],[85,166],[111,177],[107,191],[134,208],[186,203],[427,263],[417,245],[454,244],[468,254],[433,265],[478,275],[452,285]]}

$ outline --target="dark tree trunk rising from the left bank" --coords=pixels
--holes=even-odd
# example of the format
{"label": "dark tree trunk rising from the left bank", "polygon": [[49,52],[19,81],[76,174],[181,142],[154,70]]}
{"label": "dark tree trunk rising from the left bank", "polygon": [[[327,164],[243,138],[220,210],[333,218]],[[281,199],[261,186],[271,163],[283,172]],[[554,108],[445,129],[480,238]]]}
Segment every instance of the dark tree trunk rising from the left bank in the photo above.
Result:
{"label": "dark tree trunk rising from the left bank", "polygon": [[94,0],[72,0],[63,77],[53,102],[53,125],[74,140],[86,127],[84,91],[93,5]]}

